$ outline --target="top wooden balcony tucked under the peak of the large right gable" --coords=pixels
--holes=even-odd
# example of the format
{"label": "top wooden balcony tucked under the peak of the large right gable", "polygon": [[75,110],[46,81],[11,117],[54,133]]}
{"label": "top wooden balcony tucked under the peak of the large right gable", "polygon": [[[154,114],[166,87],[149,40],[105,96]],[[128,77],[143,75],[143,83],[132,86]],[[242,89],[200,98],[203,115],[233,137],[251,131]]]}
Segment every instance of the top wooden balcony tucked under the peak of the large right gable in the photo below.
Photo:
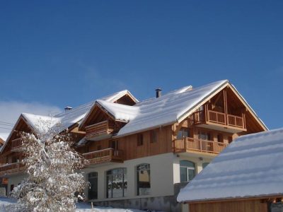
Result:
{"label": "top wooden balcony tucked under the peak of the large right gable", "polygon": [[224,112],[208,110],[207,107],[204,107],[204,110],[200,110],[192,114],[192,121],[194,124],[224,126],[226,129],[234,129],[233,132],[246,131],[245,114],[242,114],[242,116],[236,116],[233,114],[226,114]]}

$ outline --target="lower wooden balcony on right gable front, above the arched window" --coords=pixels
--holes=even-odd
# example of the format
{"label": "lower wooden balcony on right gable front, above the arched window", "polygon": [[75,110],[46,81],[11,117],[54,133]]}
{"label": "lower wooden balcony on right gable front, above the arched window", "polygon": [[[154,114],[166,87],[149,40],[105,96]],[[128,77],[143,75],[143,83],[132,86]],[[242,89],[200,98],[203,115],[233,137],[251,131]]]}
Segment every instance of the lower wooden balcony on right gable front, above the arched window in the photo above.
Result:
{"label": "lower wooden balcony on right gable front, above the arched window", "polygon": [[197,151],[203,153],[218,154],[223,151],[227,145],[228,143],[185,137],[184,139],[175,139],[173,141],[173,151],[174,153]]}

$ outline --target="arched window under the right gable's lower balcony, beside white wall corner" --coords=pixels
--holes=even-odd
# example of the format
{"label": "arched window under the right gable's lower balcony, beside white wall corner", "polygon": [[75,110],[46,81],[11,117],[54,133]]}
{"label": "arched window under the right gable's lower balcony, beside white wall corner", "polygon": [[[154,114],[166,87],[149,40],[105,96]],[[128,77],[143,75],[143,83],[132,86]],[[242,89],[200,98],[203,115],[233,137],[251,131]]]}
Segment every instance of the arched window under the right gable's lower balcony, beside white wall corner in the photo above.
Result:
{"label": "arched window under the right gable's lower balcony, beside white wall corner", "polygon": [[188,182],[195,177],[195,163],[180,160],[180,182]]}

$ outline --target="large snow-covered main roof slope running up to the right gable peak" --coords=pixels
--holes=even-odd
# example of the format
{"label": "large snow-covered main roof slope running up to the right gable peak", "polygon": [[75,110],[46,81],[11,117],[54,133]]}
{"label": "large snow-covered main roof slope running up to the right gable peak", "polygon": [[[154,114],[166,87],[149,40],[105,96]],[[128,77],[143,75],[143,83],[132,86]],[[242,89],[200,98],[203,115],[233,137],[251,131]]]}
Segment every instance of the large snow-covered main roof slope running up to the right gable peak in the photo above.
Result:
{"label": "large snow-covered main roof slope running up to the right gable peak", "polygon": [[228,81],[217,81],[194,89],[192,89],[192,86],[187,86],[167,93],[160,98],[139,102],[132,106],[139,107],[136,117],[130,119],[129,123],[120,129],[117,136],[177,122],[180,116],[192,110],[199,102],[226,82]]}

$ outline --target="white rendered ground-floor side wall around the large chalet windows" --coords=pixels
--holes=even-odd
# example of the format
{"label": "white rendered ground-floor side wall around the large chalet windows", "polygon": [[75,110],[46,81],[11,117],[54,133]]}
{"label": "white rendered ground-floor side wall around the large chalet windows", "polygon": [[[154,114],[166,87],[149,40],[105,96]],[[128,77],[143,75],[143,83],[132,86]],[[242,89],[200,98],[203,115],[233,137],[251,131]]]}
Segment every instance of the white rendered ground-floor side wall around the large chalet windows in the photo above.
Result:
{"label": "white rendered ground-floor side wall around the large chalet windows", "polygon": [[[173,177],[173,153],[154,155],[150,157],[126,160],[124,163],[111,163],[108,165],[98,165],[82,170],[85,179],[89,172],[98,172],[98,199],[94,201],[105,201],[114,199],[134,199],[151,196],[171,196],[174,194]],[[137,165],[141,163],[150,164],[151,193],[146,196],[137,196]],[[106,172],[118,167],[127,168],[127,196],[121,198],[106,198]],[[179,174],[180,175],[180,174]],[[88,189],[85,190],[86,197]]]}

